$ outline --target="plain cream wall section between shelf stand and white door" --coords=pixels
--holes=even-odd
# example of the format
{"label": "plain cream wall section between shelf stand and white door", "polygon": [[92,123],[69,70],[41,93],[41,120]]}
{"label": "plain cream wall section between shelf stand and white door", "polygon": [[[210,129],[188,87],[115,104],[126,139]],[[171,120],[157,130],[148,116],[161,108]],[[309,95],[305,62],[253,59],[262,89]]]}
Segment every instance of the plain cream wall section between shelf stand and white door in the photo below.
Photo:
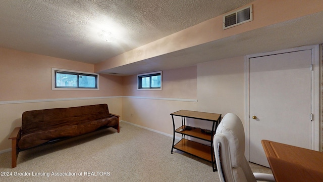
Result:
{"label": "plain cream wall section between shelf stand and white door", "polygon": [[197,100],[202,111],[235,113],[244,123],[244,57],[198,64]]}

